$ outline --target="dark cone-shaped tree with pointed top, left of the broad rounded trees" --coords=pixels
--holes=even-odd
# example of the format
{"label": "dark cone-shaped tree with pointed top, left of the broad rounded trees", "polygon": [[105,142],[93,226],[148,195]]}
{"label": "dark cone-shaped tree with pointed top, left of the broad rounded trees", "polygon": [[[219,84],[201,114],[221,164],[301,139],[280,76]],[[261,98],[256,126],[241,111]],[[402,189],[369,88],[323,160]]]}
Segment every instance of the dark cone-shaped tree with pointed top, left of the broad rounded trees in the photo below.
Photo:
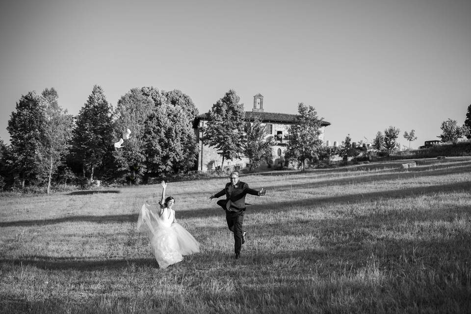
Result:
{"label": "dark cone-shaped tree with pointed top, left of the broad rounded trees", "polygon": [[103,88],[95,85],[78,113],[72,140],[72,153],[81,164],[83,175],[88,174],[90,180],[111,155],[112,131],[111,105],[106,101]]}

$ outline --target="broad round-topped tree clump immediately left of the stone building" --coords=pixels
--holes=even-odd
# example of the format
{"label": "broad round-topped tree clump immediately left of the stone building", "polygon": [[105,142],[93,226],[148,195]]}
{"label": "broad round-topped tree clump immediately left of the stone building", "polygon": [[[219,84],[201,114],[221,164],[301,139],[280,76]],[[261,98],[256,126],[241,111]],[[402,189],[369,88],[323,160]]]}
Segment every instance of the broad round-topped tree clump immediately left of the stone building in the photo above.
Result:
{"label": "broad round-topped tree clump immediately left of the stone building", "polygon": [[[167,97],[170,95],[171,97]],[[190,114],[197,113],[191,99],[180,91],[166,93],[155,87],[131,89],[115,111],[115,140],[131,130],[125,146],[114,156],[132,183],[150,175],[186,171],[193,166],[196,138]]]}

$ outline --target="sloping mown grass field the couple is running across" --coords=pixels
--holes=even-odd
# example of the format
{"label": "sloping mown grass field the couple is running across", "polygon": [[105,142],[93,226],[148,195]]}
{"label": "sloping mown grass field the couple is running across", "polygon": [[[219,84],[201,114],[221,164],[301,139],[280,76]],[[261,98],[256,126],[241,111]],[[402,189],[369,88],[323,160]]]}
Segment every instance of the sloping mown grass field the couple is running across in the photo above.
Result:
{"label": "sloping mown grass field the couple is running across", "polygon": [[0,195],[0,313],[470,313],[471,158],[242,176],[247,242],[169,183],[201,253],[159,269],[138,211],[159,185]]}

